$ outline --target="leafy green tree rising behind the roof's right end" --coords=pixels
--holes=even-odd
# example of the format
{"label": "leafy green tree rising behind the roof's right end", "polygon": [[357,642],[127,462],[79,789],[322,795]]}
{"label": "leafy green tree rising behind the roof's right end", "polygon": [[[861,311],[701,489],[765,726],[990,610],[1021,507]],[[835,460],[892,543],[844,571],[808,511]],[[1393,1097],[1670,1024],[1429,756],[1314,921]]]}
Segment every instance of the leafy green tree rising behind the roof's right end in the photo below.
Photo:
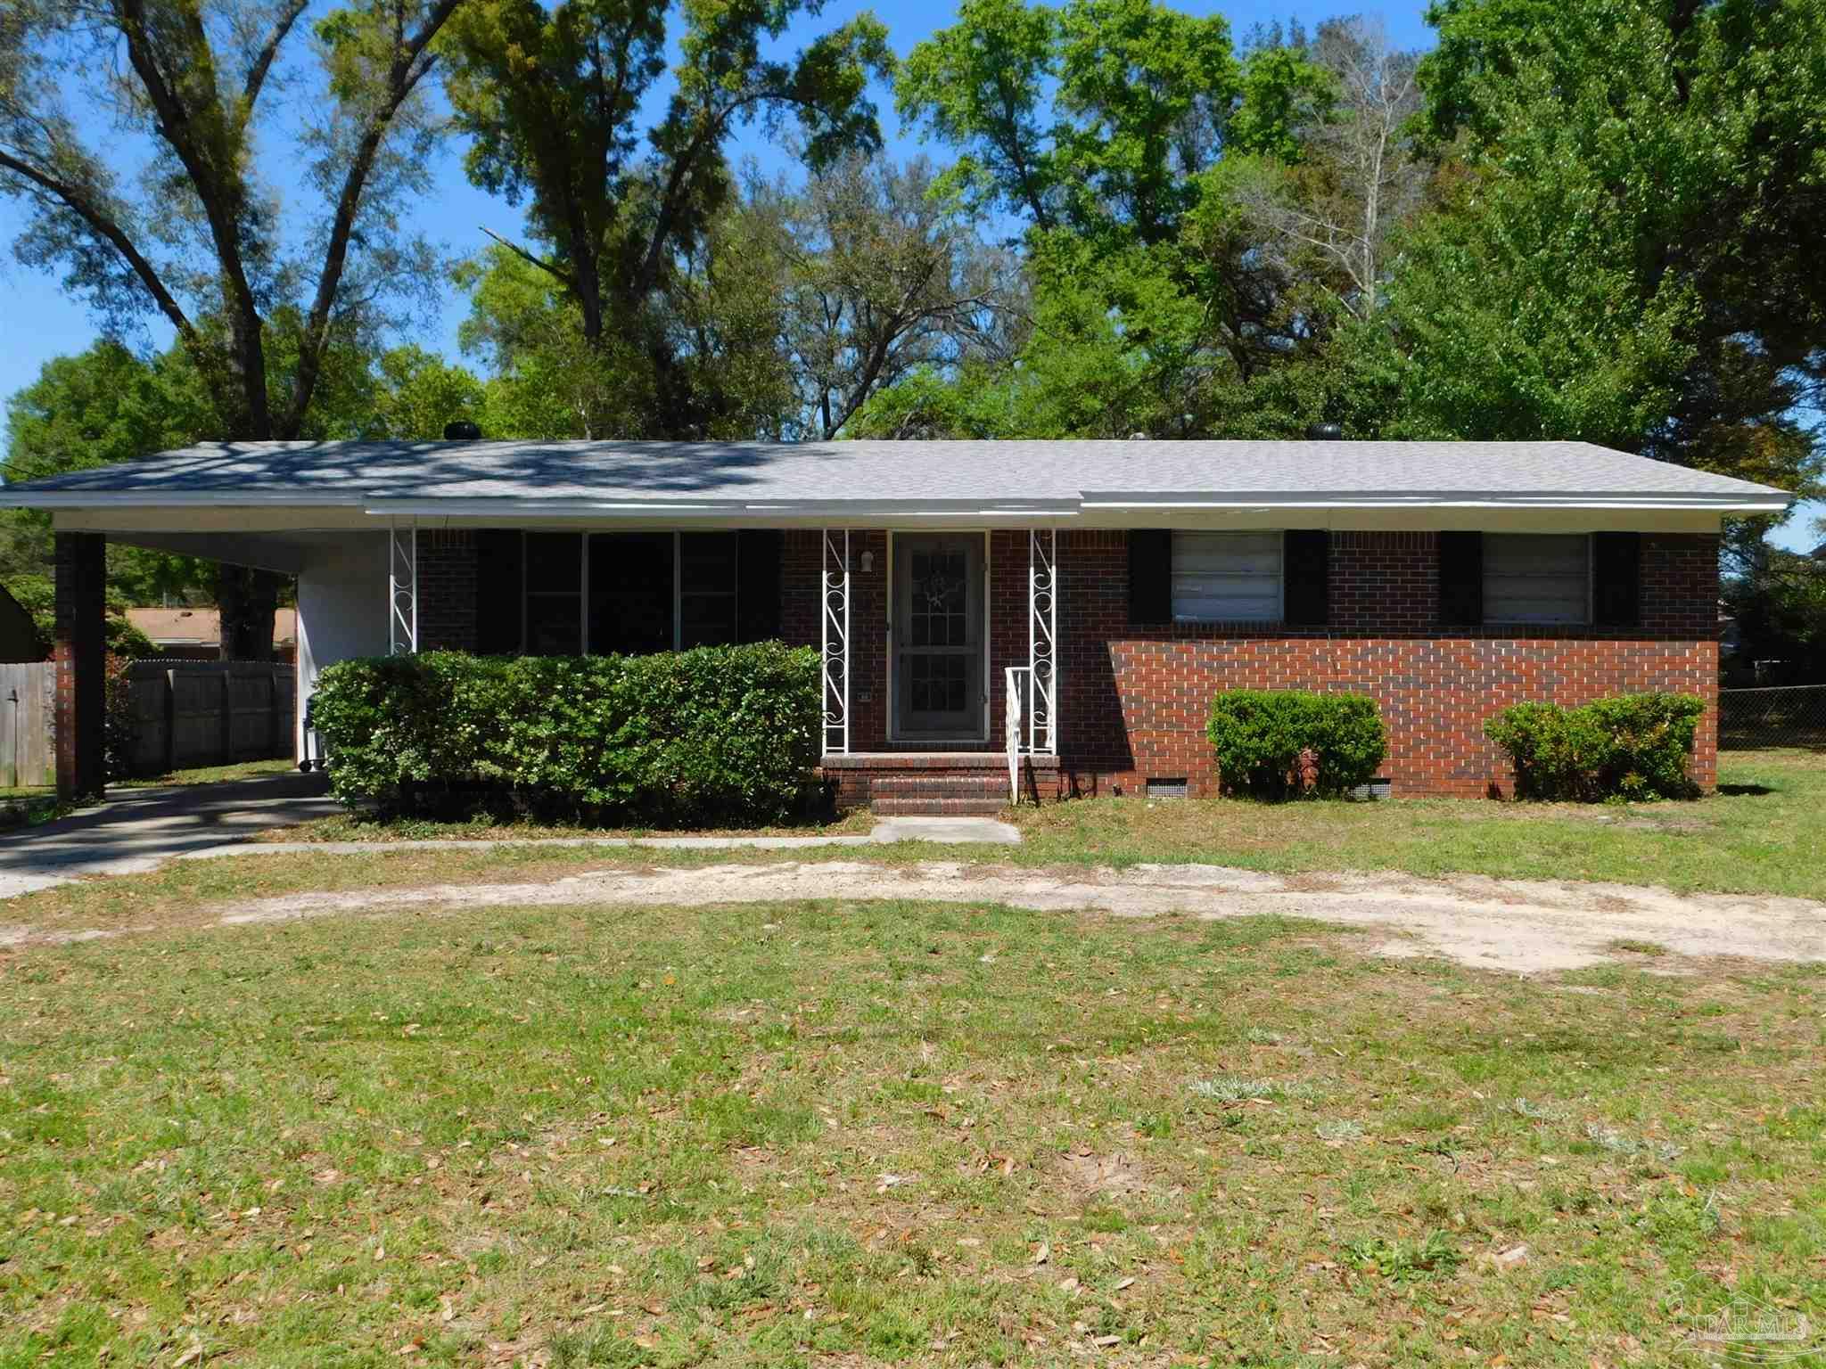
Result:
{"label": "leafy green tree rising behind the roof's right end", "polygon": [[[1682,350],[1669,396],[1614,440],[1804,491],[1826,378],[1826,5],[1443,0],[1430,20],[1430,128],[1474,177],[1461,212],[1550,226],[1558,288],[1601,272],[1623,319],[1660,316]],[[1455,270],[1499,314],[1528,268],[1477,252]],[[1618,316],[1596,303],[1601,354]]]}

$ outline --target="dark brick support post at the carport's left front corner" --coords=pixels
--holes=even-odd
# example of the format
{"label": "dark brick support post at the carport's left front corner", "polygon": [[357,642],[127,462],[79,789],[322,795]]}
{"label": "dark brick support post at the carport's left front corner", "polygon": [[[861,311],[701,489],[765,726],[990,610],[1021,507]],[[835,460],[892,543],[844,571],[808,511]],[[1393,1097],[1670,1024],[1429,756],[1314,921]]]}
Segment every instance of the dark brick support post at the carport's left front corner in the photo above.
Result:
{"label": "dark brick support post at the carport's left front corner", "polygon": [[108,783],[108,538],[57,533],[57,798],[100,798]]}

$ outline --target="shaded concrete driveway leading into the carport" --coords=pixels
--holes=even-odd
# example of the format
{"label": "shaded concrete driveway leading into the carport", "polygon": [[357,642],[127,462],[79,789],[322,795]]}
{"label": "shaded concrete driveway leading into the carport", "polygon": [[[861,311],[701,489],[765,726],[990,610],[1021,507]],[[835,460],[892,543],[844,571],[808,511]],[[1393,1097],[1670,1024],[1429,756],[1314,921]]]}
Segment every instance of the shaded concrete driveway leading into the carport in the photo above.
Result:
{"label": "shaded concrete driveway leading into the carport", "polygon": [[49,889],[77,874],[150,871],[186,851],[340,810],[321,774],[115,789],[106,803],[69,818],[0,832],[0,898]]}

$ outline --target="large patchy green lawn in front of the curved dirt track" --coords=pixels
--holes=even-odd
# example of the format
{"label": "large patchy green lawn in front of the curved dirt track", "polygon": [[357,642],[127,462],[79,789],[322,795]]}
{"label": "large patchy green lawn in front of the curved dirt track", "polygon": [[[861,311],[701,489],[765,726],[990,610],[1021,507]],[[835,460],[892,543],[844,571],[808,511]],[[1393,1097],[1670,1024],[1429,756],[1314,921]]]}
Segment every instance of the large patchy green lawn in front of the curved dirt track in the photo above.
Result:
{"label": "large patchy green lawn in front of the curved dirt track", "polygon": [[1357,947],[882,902],[4,953],[0,1365],[1585,1369],[1720,1280],[1826,1322],[1821,967]]}

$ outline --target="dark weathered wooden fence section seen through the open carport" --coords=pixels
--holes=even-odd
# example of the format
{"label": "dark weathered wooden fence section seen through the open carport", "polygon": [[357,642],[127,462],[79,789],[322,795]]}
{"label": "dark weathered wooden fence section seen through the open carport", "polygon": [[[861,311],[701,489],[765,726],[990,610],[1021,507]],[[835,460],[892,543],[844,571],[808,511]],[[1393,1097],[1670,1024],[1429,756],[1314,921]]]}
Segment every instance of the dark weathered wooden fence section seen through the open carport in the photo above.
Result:
{"label": "dark weathered wooden fence section seen through the open carport", "polygon": [[126,677],[137,776],[292,754],[298,672],[287,663],[135,661]]}

